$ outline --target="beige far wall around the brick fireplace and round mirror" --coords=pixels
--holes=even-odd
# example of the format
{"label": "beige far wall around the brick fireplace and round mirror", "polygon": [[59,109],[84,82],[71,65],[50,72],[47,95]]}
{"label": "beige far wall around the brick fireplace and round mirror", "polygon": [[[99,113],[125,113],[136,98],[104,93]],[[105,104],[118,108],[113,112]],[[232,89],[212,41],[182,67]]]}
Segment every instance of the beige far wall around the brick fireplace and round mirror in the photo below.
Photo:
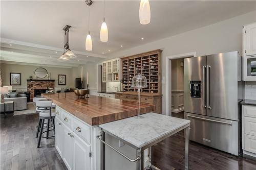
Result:
{"label": "beige far wall around the brick fireplace and round mirror", "polygon": [[[45,67],[45,66],[33,66],[33,65],[18,65],[18,64],[4,64],[1,63],[3,85],[9,85],[9,75],[10,72],[20,72],[21,73],[21,84],[20,86],[13,86],[13,89],[26,89],[27,88],[27,79],[30,76],[35,78],[34,71],[38,67],[46,68],[50,72],[50,77],[52,80],[55,80],[55,89],[65,88],[65,87],[75,87],[75,78],[81,77],[81,68],[72,67],[72,68],[60,68],[60,67]],[[83,66],[85,67],[85,66]],[[84,71],[85,72],[85,71]],[[66,85],[58,85],[58,75],[66,75]],[[84,76],[83,76],[84,77]],[[84,77],[85,78],[85,77]],[[47,78],[45,78],[47,79]]]}

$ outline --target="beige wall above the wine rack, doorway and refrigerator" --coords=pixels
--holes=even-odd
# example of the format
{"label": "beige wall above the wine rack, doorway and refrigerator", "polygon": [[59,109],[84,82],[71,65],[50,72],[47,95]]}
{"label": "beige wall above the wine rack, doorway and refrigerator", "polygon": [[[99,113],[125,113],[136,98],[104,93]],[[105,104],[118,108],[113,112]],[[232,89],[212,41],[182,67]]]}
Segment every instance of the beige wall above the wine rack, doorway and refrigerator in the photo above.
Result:
{"label": "beige wall above the wine rack, doorway and refrigerator", "polygon": [[110,54],[110,58],[125,57],[160,48],[162,52],[163,114],[166,113],[166,57],[197,52],[197,56],[239,51],[242,54],[242,27],[256,22],[256,11],[230,18],[196,30],[136,46]]}

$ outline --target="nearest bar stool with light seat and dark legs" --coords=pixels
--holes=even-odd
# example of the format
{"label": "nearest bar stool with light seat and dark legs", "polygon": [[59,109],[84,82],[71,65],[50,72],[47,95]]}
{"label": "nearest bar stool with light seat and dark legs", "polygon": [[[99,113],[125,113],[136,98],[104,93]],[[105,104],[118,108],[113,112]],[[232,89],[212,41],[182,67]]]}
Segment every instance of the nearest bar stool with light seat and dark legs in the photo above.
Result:
{"label": "nearest bar stool with light seat and dark legs", "polygon": [[[40,147],[40,142],[41,142],[41,138],[51,138],[51,137],[55,137],[55,112],[52,111],[52,101],[40,101],[37,100],[36,101],[36,106],[37,109],[40,111],[39,112],[39,122],[38,122],[38,127],[37,127],[37,131],[36,131],[36,137],[38,137],[38,133],[40,131],[39,134],[39,140],[37,143],[37,148]],[[44,127],[45,124],[45,120],[47,120],[47,127]],[[53,125],[50,126],[50,120],[52,120]],[[44,131],[44,129],[47,128],[46,131]],[[50,129],[53,128],[53,129]],[[49,131],[53,131],[54,135],[53,136],[49,136]],[[47,133],[46,136],[42,136],[43,133]]]}

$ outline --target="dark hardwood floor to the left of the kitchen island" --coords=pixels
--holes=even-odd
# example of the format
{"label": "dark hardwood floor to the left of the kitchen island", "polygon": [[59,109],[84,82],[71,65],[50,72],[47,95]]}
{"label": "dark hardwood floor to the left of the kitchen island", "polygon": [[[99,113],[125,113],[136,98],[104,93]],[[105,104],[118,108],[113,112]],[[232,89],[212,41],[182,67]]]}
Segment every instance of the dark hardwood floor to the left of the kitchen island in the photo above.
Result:
{"label": "dark hardwood floor to the left of the kitchen island", "polygon": [[41,148],[36,148],[37,123],[37,114],[1,114],[1,169],[67,169],[54,139],[42,138]]}

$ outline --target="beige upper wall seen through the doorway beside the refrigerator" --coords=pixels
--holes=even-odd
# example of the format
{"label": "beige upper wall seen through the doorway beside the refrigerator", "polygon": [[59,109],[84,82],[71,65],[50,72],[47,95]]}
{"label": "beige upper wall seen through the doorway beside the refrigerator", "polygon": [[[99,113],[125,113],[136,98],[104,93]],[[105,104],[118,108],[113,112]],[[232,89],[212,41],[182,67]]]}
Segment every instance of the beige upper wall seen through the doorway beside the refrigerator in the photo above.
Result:
{"label": "beige upper wall seen through the doorway beside the refrigerator", "polygon": [[183,59],[172,60],[172,90],[184,90]]}

